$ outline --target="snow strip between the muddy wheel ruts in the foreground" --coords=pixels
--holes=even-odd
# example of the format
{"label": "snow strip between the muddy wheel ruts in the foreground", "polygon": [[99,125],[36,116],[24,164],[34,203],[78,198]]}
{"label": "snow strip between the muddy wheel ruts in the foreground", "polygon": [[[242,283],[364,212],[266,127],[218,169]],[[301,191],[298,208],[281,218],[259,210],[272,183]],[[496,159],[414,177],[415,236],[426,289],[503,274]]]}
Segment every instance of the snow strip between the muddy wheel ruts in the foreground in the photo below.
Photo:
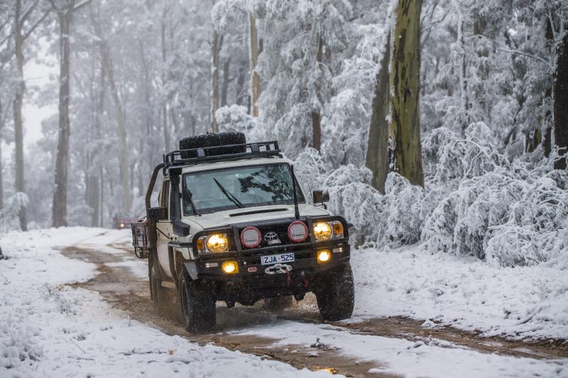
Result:
{"label": "snow strip between the muddy wheel ruts in the foreground", "polygon": [[405,377],[567,377],[568,359],[532,358],[484,354],[457,347],[444,340],[409,341],[349,333],[342,327],[282,321],[277,327],[254,326],[238,330],[240,335],[281,338],[275,345],[316,343],[336,348],[361,361],[374,361],[371,372],[403,374]]}

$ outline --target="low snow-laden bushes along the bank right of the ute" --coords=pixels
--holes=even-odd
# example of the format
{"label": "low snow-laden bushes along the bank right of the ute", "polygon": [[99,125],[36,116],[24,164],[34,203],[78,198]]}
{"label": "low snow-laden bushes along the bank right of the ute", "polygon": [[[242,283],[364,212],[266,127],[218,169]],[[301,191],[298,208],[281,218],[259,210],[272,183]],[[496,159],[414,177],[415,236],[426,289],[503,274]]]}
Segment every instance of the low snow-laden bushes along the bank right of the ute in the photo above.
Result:
{"label": "low snow-laden bushes along the bank right of the ute", "polygon": [[329,209],[354,223],[356,243],[425,243],[430,252],[471,255],[513,267],[557,262],[568,268],[568,173],[540,152],[510,162],[491,130],[472,123],[464,137],[437,128],[423,140],[426,189],[388,174],[385,194],[371,172],[326,169],[316,150],[296,160],[310,186],[329,190]]}

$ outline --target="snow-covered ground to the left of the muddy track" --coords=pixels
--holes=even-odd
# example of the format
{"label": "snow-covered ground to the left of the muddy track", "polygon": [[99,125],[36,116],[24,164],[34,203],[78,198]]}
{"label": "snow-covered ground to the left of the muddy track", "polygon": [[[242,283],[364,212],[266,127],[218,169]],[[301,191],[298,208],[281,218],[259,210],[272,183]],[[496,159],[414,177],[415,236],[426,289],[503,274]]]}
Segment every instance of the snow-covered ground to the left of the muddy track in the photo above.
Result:
{"label": "snow-covered ground to the left of the muddy track", "polygon": [[[103,232],[60,228],[2,237],[10,259],[0,262],[0,377],[329,377],[165,335],[125,319],[93,291],[65,286],[93,277],[94,265],[53,247]],[[111,243],[112,235],[98,243]]]}

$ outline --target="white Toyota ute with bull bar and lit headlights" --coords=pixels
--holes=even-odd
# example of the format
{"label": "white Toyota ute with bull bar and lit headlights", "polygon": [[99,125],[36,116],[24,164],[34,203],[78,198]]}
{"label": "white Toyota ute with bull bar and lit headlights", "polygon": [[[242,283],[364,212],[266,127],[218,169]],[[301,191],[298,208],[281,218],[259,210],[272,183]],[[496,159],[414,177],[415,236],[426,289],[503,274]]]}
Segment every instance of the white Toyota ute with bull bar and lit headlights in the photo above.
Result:
{"label": "white Toyota ute with bull bar and lit headlights", "polygon": [[177,289],[190,332],[214,327],[217,301],[286,303],[309,291],[324,320],[351,317],[349,225],[324,201],[327,191],[305,195],[278,142],[246,143],[242,133],[180,140],[153,171],[146,218],[132,223],[154,305],[163,307],[165,290]]}

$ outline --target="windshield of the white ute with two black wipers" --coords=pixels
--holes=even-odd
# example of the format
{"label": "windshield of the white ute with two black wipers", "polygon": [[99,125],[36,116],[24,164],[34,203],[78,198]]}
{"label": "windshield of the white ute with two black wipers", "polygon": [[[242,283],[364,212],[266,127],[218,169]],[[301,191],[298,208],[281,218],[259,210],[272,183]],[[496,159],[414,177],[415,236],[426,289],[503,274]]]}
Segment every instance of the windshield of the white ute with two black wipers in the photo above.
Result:
{"label": "windshield of the white ute with two black wipers", "polygon": [[[296,186],[297,201],[305,202]],[[288,164],[232,167],[183,176],[183,213],[192,215],[253,206],[293,204]]]}

